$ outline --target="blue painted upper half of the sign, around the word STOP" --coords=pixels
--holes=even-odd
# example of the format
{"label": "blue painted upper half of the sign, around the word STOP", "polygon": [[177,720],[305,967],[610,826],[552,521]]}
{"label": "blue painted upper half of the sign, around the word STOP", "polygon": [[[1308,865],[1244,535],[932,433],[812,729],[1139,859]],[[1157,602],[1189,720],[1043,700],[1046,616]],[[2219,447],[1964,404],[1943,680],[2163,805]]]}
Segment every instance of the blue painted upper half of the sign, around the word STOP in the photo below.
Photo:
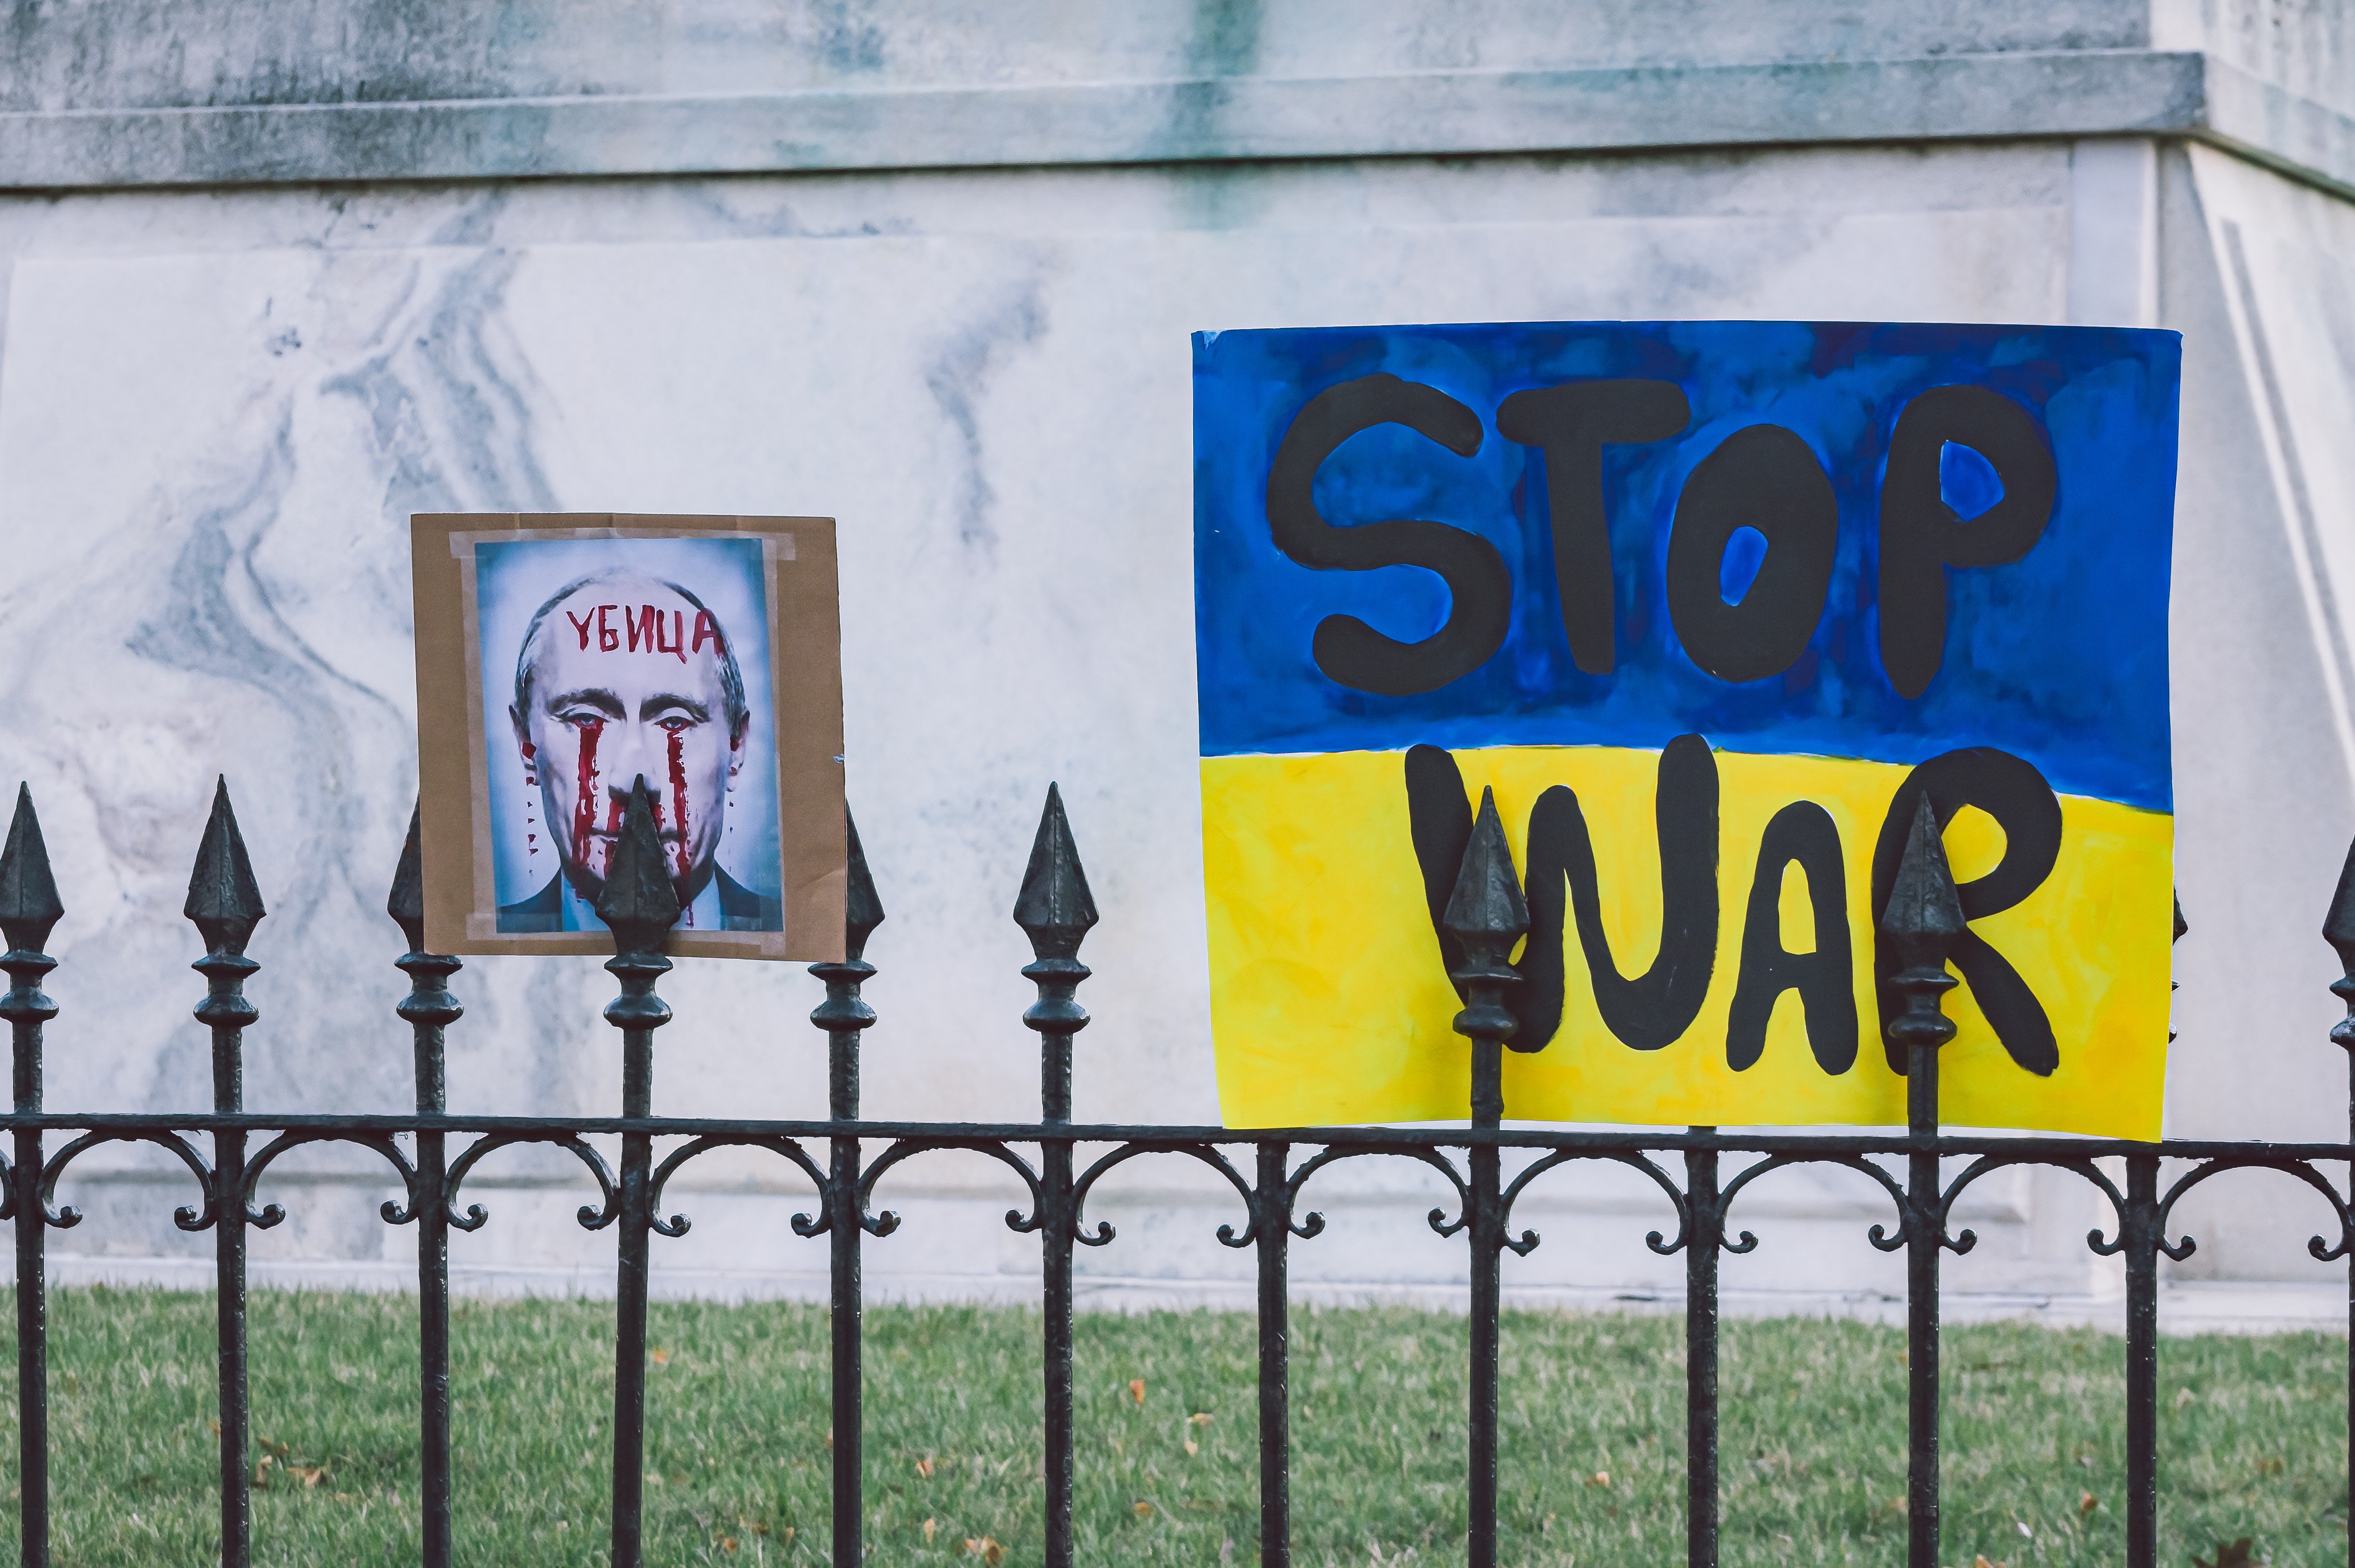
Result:
{"label": "blue painted upper half of the sign, around the word STOP", "polygon": [[[1415,697],[1328,680],[1316,624],[1354,614],[1415,640],[1448,614],[1420,567],[1316,572],[1267,527],[1267,466],[1319,391],[1389,372],[1479,414],[1486,438],[1455,457],[1404,426],[1342,443],[1316,473],[1328,523],[1429,518],[1472,530],[1514,574],[1512,633],[1472,673]],[[1571,379],[1677,381],[1693,419],[1672,440],[1604,447],[1616,584],[1616,669],[1571,662],[1554,591],[1545,459],[1495,433],[1526,386]],[[1825,323],[1554,323],[1319,327],[1194,337],[1194,617],[1201,751],[1389,751],[1601,744],[1658,749],[1700,732],[1733,751],[1917,763],[2002,746],[2063,793],[2171,810],[2167,586],[2174,527],[2174,332]],[[1905,403],[1981,384],[2035,412],[2058,499],[2042,539],[1999,567],[1948,567],[1945,659],[1905,702],[1879,662],[1875,607],[1879,485]],[[1693,466],[1750,424],[1813,447],[1839,499],[1839,553],[1823,619],[1780,676],[1729,685],[1677,645],[1665,596],[1670,518]],[[1962,516],[2002,494],[1962,447],[1941,459]],[[1740,546],[1729,551],[1736,556]],[[1754,563],[1729,560],[1724,589]]]}

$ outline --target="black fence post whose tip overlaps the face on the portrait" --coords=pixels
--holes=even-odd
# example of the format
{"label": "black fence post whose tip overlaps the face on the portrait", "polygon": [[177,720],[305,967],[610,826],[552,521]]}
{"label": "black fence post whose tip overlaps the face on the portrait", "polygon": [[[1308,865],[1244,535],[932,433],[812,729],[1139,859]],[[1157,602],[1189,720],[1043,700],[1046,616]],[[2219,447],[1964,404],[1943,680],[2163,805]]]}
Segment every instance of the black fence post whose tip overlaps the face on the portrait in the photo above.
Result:
{"label": "black fence post whose tip overlaps the face on the portrait", "polygon": [[[671,1008],[655,996],[655,982],[671,970],[662,944],[678,923],[678,888],[655,829],[655,803],[645,775],[629,791],[622,836],[605,859],[605,885],[596,916],[612,930],[605,970],[622,979],[622,994],[605,1003],[605,1022],[622,1031],[622,1116],[655,1114],[655,1029],[671,1022]],[[645,1248],[652,1229],[655,1168],[650,1132],[622,1135],[622,1238],[615,1278],[612,1351],[612,1568],[638,1568],[645,1556]]]}

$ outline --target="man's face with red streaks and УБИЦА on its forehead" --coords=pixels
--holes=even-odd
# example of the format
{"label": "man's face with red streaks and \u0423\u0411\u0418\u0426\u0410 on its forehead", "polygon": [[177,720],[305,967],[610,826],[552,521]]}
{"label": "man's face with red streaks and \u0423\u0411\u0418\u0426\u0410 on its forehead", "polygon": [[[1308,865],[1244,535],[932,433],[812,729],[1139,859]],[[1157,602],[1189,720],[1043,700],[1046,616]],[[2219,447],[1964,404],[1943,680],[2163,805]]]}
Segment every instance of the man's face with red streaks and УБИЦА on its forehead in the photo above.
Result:
{"label": "man's face with red streaks and \u0423\u0411\u0418\u0426\u0410 on its forehead", "polygon": [[584,584],[549,610],[530,711],[509,709],[572,885],[596,897],[636,779],[655,800],[681,897],[711,881],[728,786],[744,765],[721,685],[718,622],[652,579]]}

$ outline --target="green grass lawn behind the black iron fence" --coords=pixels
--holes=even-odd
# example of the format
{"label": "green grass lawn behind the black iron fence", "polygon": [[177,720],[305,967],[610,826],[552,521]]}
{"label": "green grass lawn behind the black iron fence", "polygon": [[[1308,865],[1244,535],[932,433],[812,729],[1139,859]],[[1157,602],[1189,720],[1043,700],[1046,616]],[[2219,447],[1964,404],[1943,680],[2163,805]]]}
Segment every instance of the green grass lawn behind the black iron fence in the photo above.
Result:
{"label": "green grass lawn behind the black iron fence", "polygon": [[[612,1307],[455,1318],[459,1561],[603,1563]],[[1724,1333],[1724,1561],[1903,1561],[1903,1335]],[[403,1297],[252,1297],[257,1563],[414,1561],[414,1335]],[[648,1561],[822,1561],[824,1311],[655,1304],[652,1342]],[[217,1561],[210,1297],[61,1290],[49,1344],[57,1563]],[[1083,1563],[1258,1561],[1253,1347],[1234,1314],[1079,1321]],[[1462,1561],[1462,1318],[1293,1316],[1300,1563]],[[1945,1556],[2122,1561],[2122,1342],[1957,1328],[1945,1366]],[[2160,1561],[2249,1535],[2256,1561],[2341,1568],[2346,1340],[2169,1340],[2160,1377]],[[1502,1384],[1507,1563],[1684,1561],[1679,1318],[1507,1314]],[[867,1314],[871,1561],[987,1540],[1036,1563],[1039,1474],[1036,1314]]]}

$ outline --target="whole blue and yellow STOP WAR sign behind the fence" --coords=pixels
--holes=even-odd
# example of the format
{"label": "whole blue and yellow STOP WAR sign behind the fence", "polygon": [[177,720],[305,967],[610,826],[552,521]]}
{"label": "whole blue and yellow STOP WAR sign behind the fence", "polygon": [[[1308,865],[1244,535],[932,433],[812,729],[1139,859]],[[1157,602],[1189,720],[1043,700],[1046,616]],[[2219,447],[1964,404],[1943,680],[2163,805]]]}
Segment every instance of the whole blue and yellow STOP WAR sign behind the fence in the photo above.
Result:
{"label": "whole blue and yellow STOP WAR sign behind the fence", "polygon": [[1465,1116],[1439,930],[1528,881],[1505,1114],[1903,1123],[1875,928],[1929,796],[1943,1121],[2157,1137],[2174,332],[1203,332],[1229,1125]]}

